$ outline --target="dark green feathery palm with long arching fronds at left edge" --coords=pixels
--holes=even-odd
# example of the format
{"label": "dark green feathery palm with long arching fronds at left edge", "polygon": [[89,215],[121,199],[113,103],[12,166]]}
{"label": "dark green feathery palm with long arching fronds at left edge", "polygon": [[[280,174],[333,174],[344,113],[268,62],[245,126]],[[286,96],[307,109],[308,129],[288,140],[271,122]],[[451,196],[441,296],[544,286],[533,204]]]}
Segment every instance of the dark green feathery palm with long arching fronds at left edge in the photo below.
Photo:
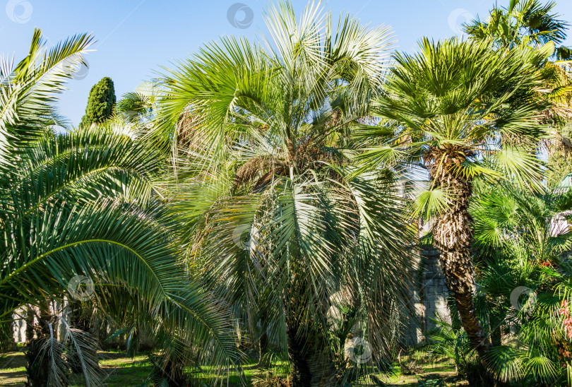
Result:
{"label": "dark green feathery palm with long arching fronds at left edge", "polygon": [[[180,353],[201,345],[208,347],[203,361],[228,367],[237,352],[225,311],[189,280],[177,222],[155,189],[163,159],[148,143],[110,129],[50,129],[57,93],[91,42],[77,35],[45,50],[35,30],[28,56],[1,66],[0,321],[25,305],[42,314],[28,343],[30,386],[65,385],[64,352],[71,350],[83,352],[86,385],[98,385],[97,357],[86,350],[93,340],[48,306],[71,299],[76,288],[68,285],[82,275],[95,285],[85,302],[111,317],[127,308],[154,321],[166,356],[172,347]],[[56,321],[68,332],[60,342]],[[165,376],[172,381],[182,369]]]}

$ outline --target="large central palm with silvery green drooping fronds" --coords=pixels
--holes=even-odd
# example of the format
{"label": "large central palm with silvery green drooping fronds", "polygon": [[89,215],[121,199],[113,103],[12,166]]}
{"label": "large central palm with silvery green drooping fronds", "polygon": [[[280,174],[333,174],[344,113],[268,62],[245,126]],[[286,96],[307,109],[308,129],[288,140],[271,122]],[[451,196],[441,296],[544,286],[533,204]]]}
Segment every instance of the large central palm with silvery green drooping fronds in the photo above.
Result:
{"label": "large central palm with silvery green drooping fronds", "polygon": [[[300,19],[270,6],[266,22],[266,49],[228,37],[169,71],[155,138],[191,138],[177,140],[171,194],[189,264],[243,331],[287,344],[292,386],[332,386],[347,334],[381,360],[407,304],[410,236],[391,172],[350,161],[391,35],[351,16],[335,29],[314,3]],[[333,338],[338,298],[345,332]]]}

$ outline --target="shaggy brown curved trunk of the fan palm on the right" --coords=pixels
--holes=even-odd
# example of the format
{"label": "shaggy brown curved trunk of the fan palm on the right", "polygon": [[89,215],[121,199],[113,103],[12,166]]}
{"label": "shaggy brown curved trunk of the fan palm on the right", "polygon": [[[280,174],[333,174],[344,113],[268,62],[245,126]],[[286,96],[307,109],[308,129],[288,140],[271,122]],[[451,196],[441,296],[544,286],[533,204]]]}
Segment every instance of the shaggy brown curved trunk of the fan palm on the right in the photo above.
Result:
{"label": "shaggy brown curved trunk of the fan palm on the right", "polygon": [[439,168],[432,173],[432,177],[437,186],[446,189],[453,196],[450,208],[444,210],[436,219],[433,231],[435,245],[441,251],[439,261],[448,290],[455,300],[461,324],[472,347],[477,350],[479,358],[484,362],[484,354],[491,347],[491,343],[477,318],[473,302],[475,294],[471,257],[473,234],[472,218],[468,210],[472,184],[446,167]]}

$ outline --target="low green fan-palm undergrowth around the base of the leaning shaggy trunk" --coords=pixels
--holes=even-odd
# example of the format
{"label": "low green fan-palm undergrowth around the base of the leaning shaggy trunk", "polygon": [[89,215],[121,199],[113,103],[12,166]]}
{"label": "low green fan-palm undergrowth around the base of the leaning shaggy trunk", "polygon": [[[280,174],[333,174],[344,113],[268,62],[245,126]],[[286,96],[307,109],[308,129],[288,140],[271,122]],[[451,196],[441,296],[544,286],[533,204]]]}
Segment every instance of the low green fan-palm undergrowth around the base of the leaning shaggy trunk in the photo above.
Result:
{"label": "low green fan-palm undergrowth around the base of the leaning shaggy trunk", "polygon": [[[487,355],[489,364],[499,379],[515,386],[565,386],[570,377],[572,344],[561,312],[572,293],[570,260],[562,256],[571,247],[569,215],[564,215],[570,196],[477,184],[471,208],[479,263],[475,304],[497,341]],[[518,297],[519,289],[530,293]],[[429,350],[455,359],[470,377],[475,352],[455,318],[452,324],[438,323]]]}

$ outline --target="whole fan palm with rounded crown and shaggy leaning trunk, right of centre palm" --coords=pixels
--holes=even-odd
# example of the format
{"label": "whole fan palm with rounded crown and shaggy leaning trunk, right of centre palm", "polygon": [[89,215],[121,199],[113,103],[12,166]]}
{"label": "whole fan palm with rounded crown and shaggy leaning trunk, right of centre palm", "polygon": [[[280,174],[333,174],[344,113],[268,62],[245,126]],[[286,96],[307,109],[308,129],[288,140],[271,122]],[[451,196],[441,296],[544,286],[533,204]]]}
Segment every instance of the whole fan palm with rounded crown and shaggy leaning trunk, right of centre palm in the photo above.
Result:
{"label": "whole fan palm with rounded crown and shaggy leaning trunk, right of centre palm", "polygon": [[552,54],[512,50],[501,56],[489,45],[424,39],[417,54],[395,54],[385,93],[373,108],[383,121],[359,133],[368,147],[359,156],[364,165],[420,167],[429,174],[429,190],[416,205],[434,218],[433,241],[441,251],[448,289],[483,360],[491,343],[472,299],[472,181],[482,175],[537,184],[542,106],[532,93],[541,83],[530,62]]}

